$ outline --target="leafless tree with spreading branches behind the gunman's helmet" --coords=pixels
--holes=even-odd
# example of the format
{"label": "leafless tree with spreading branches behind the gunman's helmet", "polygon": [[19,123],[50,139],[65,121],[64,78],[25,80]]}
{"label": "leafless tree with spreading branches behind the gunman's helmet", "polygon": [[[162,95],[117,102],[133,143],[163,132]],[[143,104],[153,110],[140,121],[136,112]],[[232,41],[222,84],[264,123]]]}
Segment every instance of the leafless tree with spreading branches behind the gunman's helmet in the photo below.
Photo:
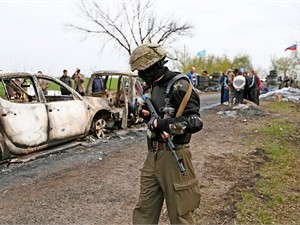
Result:
{"label": "leafless tree with spreading branches behind the gunman's helmet", "polygon": [[104,9],[104,4],[81,0],[79,16],[84,25],[67,27],[82,33],[85,38],[102,38],[102,47],[114,42],[130,55],[133,48],[145,42],[170,44],[178,37],[190,35],[193,26],[170,17],[158,19],[152,0],[123,0],[119,10]]}

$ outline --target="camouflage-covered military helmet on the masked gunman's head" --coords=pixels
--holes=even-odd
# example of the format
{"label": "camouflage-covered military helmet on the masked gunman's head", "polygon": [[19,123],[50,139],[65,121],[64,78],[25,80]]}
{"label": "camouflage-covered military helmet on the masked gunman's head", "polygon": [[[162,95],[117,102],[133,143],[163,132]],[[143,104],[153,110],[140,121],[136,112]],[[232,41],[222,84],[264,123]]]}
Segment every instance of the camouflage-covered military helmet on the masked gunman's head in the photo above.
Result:
{"label": "camouflage-covered military helmet on the masked gunman's head", "polygon": [[129,64],[131,71],[145,70],[167,56],[165,49],[157,44],[142,44],[133,50]]}

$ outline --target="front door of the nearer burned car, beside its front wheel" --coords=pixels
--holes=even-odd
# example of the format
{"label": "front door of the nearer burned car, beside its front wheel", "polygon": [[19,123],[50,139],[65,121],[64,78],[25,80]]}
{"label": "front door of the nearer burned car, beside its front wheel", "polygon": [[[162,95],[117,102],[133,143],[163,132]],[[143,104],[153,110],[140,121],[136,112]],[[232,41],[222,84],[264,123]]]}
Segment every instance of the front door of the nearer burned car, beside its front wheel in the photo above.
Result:
{"label": "front door of the nearer burned car, beside its front wheel", "polygon": [[47,90],[46,108],[49,118],[49,140],[65,140],[84,135],[88,127],[88,106],[84,99],[69,94],[61,95],[61,84],[50,81]]}

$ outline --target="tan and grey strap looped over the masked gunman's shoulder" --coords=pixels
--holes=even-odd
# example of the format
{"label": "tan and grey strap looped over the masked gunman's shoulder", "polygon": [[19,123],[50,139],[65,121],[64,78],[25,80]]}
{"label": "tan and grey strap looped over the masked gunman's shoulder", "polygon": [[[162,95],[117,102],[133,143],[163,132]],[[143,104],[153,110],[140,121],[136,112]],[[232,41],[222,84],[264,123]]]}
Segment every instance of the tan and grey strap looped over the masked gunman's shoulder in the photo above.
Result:
{"label": "tan and grey strap looped over the masked gunman's shoulder", "polygon": [[166,104],[169,104],[169,99],[170,99],[169,98],[169,93],[170,93],[170,90],[171,90],[173,84],[177,80],[179,80],[181,78],[185,78],[186,80],[188,80],[189,87],[188,87],[188,89],[187,89],[187,91],[186,91],[186,93],[185,93],[185,95],[183,97],[182,102],[180,103],[180,106],[179,106],[179,108],[177,110],[177,113],[176,113],[176,117],[179,117],[179,116],[182,115],[183,110],[185,109],[185,106],[186,106],[188,100],[191,97],[192,90],[193,90],[193,85],[191,84],[191,81],[190,81],[190,79],[188,79],[187,75],[185,75],[185,74],[178,74],[178,75],[176,75],[175,77],[172,78],[172,80],[168,83],[168,86],[167,86],[167,89],[166,89],[166,99],[165,99],[165,102],[166,102]]}

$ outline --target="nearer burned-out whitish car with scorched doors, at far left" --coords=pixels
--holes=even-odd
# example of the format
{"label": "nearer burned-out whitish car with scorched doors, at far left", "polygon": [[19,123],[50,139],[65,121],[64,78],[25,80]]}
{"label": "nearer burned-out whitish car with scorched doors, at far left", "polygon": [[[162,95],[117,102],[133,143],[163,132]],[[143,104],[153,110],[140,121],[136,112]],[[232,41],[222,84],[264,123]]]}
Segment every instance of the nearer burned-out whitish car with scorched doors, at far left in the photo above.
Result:
{"label": "nearer burned-out whitish car with scorched doors, at far left", "polygon": [[113,120],[106,100],[82,97],[50,76],[0,72],[0,83],[1,159],[47,149],[90,132],[102,138]]}

